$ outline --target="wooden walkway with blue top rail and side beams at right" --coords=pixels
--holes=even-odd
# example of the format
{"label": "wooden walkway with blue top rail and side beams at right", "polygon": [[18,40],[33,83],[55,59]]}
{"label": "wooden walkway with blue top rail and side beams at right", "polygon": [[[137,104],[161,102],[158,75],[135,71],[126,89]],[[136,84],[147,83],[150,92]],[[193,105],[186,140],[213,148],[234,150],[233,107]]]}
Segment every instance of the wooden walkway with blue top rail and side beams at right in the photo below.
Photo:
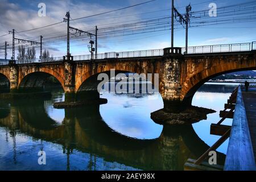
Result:
{"label": "wooden walkway with blue top rail and side beams at right", "polygon": [[[210,126],[210,134],[221,138],[213,144],[199,159],[188,159],[185,170],[220,170],[220,166],[210,165],[205,161],[210,151],[216,150],[229,138],[226,153],[225,171],[255,171],[256,156],[256,89],[250,87],[249,92],[242,92],[239,86],[229,97],[225,110],[220,111],[222,118],[217,124]],[[232,126],[221,125],[226,118],[233,118]]]}

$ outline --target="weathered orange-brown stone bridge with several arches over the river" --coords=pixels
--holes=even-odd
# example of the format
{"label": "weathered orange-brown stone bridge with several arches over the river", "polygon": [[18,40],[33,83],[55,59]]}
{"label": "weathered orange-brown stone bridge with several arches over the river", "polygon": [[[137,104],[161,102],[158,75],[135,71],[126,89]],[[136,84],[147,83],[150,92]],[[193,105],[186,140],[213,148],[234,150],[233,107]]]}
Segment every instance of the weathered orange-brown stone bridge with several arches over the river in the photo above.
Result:
{"label": "weathered orange-brown stone bridge with several arches over the river", "polygon": [[[181,54],[181,48],[166,48],[163,56],[112,58],[86,61],[55,61],[48,63],[0,66],[0,81],[10,82],[11,92],[22,88],[43,86],[46,77],[59,80],[67,96],[88,91],[99,97],[99,73],[158,73],[159,92],[164,107],[190,105],[196,90],[205,82],[229,72],[256,69],[256,51]],[[18,61],[17,61],[18,63]],[[154,82],[154,81],[153,81]]]}

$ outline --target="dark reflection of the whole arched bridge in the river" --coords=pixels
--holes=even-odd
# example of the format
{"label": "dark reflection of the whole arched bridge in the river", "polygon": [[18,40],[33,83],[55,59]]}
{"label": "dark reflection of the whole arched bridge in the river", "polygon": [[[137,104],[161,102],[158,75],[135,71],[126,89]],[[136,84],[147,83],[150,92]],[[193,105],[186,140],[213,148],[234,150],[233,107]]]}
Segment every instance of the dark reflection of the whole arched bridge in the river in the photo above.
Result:
{"label": "dark reflection of the whole arched bridge in the river", "polygon": [[[159,138],[141,140],[110,129],[101,118],[99,106],[66,109],[59,125],[47,115],[43,101],[23,102],[22,106],[16,103],[5,113],[1,111],[0,126],[61,144],[68,151],[68,159],[73,150],[79,150],[140,169],[182,170],[188,158],[198,158],[209,148],[192,125],[164,126]],[[223,154],[218,157],[218,162],[224,162]]]}

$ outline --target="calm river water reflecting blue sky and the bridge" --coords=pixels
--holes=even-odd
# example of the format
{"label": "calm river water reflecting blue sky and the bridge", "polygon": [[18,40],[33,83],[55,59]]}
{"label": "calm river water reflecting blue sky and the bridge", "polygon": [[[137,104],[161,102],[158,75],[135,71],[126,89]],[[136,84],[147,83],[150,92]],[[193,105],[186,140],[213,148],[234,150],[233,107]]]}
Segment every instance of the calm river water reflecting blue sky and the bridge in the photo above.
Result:
{"label": "calm river water reflecting blue sky and the bridge", "polygon": [[[0,170],[183,170],[220,138],[210,135],[210,124],[236,86],[203,85],[192,104],[217,112],[191,126],[154,123],[150,113],[163,107],[159,94],[102,93],[108,104],[76,109],[53,109],[64,100],[60,90],[48,101],[1,101]],[[217,150],[219,163],[227,146]],[[39,151],[46,165],[39,165]]]}

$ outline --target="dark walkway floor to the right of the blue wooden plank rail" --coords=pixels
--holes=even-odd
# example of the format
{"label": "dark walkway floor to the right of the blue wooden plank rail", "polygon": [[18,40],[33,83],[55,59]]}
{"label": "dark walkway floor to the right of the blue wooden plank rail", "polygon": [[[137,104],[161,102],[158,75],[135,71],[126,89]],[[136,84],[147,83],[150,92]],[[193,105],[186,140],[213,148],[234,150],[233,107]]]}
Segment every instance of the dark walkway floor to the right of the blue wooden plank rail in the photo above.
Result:
{"label": "dark walkway floor to the right of the blue wooden plank rail", "polygon": [[253,146],[254,159],[256,159],[256,89],[250,89],[249,92],[243,92],[242,95],[249,125],[251,144]]}

